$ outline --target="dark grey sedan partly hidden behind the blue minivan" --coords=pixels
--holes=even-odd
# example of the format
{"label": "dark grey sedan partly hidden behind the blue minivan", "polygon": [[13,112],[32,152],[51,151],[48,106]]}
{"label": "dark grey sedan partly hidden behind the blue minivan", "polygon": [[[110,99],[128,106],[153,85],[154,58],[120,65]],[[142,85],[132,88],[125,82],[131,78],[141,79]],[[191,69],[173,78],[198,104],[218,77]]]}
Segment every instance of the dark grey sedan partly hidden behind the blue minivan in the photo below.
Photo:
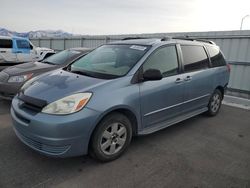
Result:
{"label": "dark grey sedan partly hidden behind the blue minivan", "polygon": [[0,72],[0,98],[11,100],[29,79],[64,67],[88,52],[88,48],[71,48],[41,62],[24,63],[4,69]]}

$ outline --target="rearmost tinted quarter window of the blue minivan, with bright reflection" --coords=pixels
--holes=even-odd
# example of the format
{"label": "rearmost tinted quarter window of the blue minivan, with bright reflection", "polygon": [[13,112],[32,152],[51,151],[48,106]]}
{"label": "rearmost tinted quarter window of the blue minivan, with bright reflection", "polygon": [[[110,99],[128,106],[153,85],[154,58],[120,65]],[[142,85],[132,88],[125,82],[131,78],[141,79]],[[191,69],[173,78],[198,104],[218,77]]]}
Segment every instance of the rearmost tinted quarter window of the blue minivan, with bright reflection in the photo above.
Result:
{"label": "rearmost tinted quarter window of the blue minivan, with bright reflection", "polygon": [[220,52],[220,49],[216,46],[207,46],[208,53],[210,55],[212,67],[219,67],[226,65],[226,61]]}

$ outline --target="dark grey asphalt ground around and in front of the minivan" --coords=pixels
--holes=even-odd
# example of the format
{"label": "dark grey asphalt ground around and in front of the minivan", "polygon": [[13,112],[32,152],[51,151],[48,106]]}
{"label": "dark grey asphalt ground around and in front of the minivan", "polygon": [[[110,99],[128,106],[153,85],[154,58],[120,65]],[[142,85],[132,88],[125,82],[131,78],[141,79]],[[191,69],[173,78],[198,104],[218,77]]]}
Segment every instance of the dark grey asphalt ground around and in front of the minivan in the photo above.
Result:
{"label": "dark grey asphalt ground around and in front of the minivan", "polygon": [[53,159],[15,136],[10,102],[0,100],[0,187],[250,188],[250,111],[222,106],[157,133],[134,138],[110,163]]}

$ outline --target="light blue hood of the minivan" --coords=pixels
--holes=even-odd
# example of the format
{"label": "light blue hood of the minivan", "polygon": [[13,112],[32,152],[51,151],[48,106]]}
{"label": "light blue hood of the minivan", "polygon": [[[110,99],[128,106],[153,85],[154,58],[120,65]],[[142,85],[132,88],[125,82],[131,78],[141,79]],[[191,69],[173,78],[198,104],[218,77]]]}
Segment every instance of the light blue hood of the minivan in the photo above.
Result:
{"label": "light blue hood of the minivan", "polygon": [[92,92],[111,81],[55,70],[36,79],[23,93],[50,103],[74,93]]}

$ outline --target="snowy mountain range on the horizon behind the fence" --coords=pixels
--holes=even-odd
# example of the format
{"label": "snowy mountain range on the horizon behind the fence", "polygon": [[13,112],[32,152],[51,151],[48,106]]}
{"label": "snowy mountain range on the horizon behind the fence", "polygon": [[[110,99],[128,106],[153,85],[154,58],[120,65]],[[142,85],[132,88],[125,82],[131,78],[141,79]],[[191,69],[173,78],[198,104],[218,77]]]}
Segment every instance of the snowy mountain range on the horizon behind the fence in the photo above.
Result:
{"label": "snowy mountain range on the horizon behind the fence", "polygon": [[0,36],[18,36],[18,37],[27,37],[27,38],[41,38],[41,37],[58,37],[66,38],[74,36],[72,33],[68,33],[62,30],[37,30],[29,32],[16,32],[10,31],[5,28],[0,28]]}

